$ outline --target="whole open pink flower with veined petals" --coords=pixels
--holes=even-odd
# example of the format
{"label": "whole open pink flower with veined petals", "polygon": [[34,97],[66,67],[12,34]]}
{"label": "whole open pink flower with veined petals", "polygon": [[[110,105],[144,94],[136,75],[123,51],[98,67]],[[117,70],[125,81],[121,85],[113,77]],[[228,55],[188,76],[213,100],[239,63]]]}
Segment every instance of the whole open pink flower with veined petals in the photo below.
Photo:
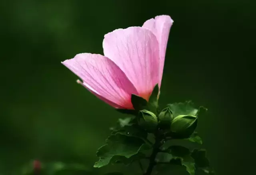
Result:
{"label": "whole open pink flower with veined petals", "polygon": [[142,27],[116,29],[104,36],[104,56],[80,53],[62,62],[87,88],[115,108],[133,109],[131,95],[149,99],[162,81],[170,16],[156,16]]}

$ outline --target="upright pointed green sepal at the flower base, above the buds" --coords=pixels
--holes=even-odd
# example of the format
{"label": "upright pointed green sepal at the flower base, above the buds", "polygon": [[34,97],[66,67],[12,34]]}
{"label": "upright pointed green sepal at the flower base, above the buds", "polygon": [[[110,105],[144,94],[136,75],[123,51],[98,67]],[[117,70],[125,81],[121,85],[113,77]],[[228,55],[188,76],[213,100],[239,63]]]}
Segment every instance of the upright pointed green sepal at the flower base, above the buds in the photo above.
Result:
{"label": "upright pointed green sepal at the flower base, above the buds", "polygon": [[148,109],[154,114],[158,113],[158,94],[159,87],[156,84],[148,100]]}

